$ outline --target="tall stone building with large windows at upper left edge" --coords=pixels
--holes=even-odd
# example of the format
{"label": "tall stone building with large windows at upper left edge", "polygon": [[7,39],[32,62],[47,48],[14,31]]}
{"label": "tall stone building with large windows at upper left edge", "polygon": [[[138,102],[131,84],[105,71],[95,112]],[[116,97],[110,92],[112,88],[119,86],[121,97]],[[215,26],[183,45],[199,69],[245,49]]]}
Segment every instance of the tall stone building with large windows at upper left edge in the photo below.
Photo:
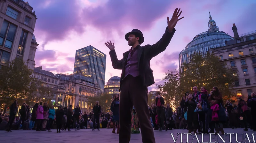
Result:
{"label": "tall stone building with large windows at upper left edge", "polygon": [[[0,1],[0,66],[22,57],[29,68],[35,67],[35,11],[22,0]],[[32,40],[33,39],[33,40]]]}

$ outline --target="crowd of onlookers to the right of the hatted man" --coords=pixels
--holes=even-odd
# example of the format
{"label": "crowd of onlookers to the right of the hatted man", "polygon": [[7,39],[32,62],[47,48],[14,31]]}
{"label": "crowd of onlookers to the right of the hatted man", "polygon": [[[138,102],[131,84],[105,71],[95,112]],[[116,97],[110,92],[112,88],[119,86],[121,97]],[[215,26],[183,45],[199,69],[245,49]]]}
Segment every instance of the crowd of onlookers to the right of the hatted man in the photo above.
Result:
{"label": "crowd of onlookers to the right of the hatted man", "polygon": [[[205,87],[193,87],[193,93],[186,92],[176,111],[170,104],[165,107],[164,98],[157,92],[155,104],[149,107],[154,130],[188,129],[188,133],[219,133],[224,134],[224,127],[245,128],[256,131],[256,92],[248,96],[247,102],[238,98],[238,104],[223,102],[218,87],[208,93]],[[208,132],[208,129],[210,131]],[[215,132],[214,132],[215,128]]]}

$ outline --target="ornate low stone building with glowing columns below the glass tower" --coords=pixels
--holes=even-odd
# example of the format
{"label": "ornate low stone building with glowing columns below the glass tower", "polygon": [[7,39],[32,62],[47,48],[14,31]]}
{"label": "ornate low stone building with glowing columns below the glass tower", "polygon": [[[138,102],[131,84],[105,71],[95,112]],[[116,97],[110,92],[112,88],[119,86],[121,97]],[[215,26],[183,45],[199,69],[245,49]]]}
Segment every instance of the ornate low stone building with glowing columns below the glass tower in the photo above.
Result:
{"label": "ornate low stone building with glowing columns below the glass tower", "polygon": [[[92,111],[93,105],[88,102],[88,97],[94,97],[100,91],[99,86],[93,84],[90,78],[80,74],[54,74],[43,70],[40,66],[34,68],[33,76],[42,82],[42,86],[52,88],[51,102],[56,108],[60,105],[64,107],[73,105],[73,108],[79,105],[83,112],[88,113]],[[40,94],[33,98],[35,103],[43,100],[44,97],[42,99]]]}

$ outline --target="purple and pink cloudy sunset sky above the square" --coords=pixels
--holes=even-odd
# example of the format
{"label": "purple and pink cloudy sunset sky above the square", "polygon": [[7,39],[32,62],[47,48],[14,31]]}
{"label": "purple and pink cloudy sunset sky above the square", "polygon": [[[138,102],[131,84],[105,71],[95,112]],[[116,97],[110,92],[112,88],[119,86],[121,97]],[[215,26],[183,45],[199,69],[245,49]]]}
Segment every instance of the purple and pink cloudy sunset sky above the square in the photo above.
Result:
{"label": "purple and pink cloudy sunset sky above the square", "polygon": [[[256,30],[255,0],[40,0],[29,1],[36,12],[36,66],[53,73],[72,73],[75,51],[92,45],[107,55],[106,79],[121,75],[112,68],[106,41],[115,42],[117,57],[130,47],[124,35],[140,29],[145,41],[157,42],[175,8],[185,16],[176,25],[167,49],[151,60],[156,83],[162,83],[164,72],[178,68],[178,56],[194,36],[208,30],[210,9],[212,19],[221,31],[234,36],[235,23],[239,34]],[[154,90],[155,85],[148,87]]]}

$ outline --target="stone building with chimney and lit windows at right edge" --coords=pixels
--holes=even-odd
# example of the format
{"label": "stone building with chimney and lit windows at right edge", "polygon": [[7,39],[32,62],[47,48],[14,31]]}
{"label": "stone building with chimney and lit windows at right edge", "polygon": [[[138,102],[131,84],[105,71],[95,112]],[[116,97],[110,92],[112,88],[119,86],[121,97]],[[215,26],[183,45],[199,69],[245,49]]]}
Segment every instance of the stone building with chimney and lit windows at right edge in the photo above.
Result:
{"label": "stone building with chimney and lit windows at right edge", "polygon": [[220,58],[220,62],[229,65],[238,76],[235,81],[233,101],[237,97],[247,99],[248,95],[256,91],[256,31],[238,35],[236,25],[233,24],[234,40],[226,41],[226,46],[210,49],[210,53]]}

